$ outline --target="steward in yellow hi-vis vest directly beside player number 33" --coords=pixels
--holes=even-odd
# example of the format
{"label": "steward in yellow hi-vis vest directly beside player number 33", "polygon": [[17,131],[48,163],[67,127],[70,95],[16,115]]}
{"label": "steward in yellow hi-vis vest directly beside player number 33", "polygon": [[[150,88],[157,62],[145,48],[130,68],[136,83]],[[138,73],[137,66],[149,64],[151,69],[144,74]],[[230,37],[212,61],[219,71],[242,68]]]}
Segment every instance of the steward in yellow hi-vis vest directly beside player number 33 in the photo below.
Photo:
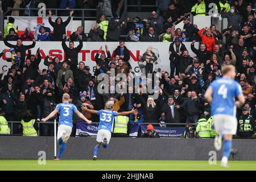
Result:
{"label": "steward in yellow hi-vis vest directly beside player number 33", "polygon": [[118,115],[115,117],[113,137],[128,137],[130,134],[129,117]]}

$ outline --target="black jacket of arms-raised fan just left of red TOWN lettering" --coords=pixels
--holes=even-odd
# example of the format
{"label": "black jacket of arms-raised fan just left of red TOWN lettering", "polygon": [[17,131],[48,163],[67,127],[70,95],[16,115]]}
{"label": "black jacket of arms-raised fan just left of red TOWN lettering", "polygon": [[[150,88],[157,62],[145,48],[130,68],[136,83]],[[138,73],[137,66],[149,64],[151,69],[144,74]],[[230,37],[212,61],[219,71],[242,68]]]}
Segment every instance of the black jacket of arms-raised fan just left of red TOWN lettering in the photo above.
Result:
{"label": "black jacket of arms-raised fan just left of red TOWN lettering", "polygon": [[71,66],[78,65],[78,53],[82,49],[82,40],[79,41],[79,46],[70,49],[66,43],[65,39],[62,39],[62,47],[66,53],[65,60],[71,59]]}

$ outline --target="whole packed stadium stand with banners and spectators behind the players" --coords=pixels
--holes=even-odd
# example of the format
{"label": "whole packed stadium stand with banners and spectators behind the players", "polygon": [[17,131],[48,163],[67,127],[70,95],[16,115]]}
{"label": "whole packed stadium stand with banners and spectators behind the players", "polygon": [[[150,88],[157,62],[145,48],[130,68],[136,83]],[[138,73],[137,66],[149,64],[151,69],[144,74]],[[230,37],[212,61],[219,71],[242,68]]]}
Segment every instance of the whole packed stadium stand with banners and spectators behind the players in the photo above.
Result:
{"label": "whole packed stadium stand with banners and spectators behind the players", "polygon": [[[21,121],[31,110],[30,119],[40,124],[38,134],[53,135],[53,119],[43,124],[40,119],[68,93],[70,102],[92,118],[92,127],[98,117],[81,105],[100,110],[113,99],[116,111],[138,109],[129,116],[127,137],[141,137],[148,123],[156,132],[166,125],[179,131],[160,137],[199,137],[193,125],[211,117],[205,90],[221,77],[223,65],[233,64],[246,97],[244,108],[237,109],[237,137],[255,138],[255,1],[221,0],[219,14],[197,10],[208,3],[204,0],[1,2],[0,106],[9,134],[22,135]],[[113,85],[98,81],[101,73]],[[112,92],[117,88],[125,92]],[[0,134],[6,134],[5,119],[0,119]],[[246,120],[251,123],[245,130]],[[82,135],[79,118],[73,123],[72,136]]]}

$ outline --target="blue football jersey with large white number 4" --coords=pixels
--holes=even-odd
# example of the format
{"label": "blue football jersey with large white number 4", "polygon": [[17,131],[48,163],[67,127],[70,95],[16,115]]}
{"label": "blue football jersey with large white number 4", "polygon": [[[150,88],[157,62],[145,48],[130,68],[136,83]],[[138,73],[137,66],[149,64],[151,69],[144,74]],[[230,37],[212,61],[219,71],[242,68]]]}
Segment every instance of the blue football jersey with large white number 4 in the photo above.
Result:
{"label": "blue football jersey with large white number 4", "polygon": [[237,81],[231,78],[220,78],[213,81],[212,89],[212,115],[228,114],[236,117],[235,97],[242,94],[242,88]]}

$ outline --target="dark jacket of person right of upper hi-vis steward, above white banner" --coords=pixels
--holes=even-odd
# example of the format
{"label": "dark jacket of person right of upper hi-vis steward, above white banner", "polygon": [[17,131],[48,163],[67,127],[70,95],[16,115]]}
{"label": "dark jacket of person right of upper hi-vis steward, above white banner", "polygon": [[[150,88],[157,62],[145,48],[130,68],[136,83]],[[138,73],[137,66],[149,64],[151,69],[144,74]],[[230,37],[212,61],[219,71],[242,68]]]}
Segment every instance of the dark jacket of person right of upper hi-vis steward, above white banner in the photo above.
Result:
{"label": "dark jacket of person right of upper hi-vis steward, above white banner", "polygon": [[109,22],[107,36],[106,36],[107,41],[110,41],[110,42],[119,41],[120,35],[121,35],[121,26],[119,22],[115,22],[114,20],[111,20]]}

